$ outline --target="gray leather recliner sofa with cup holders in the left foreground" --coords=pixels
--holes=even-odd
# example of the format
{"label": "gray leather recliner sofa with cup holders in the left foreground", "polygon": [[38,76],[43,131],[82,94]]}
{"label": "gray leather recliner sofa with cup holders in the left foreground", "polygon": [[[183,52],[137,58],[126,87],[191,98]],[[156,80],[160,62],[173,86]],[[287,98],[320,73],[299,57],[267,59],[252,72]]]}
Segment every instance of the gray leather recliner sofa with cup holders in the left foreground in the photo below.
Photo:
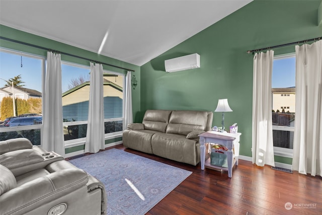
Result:
{"label": "gray leather recliner sofa with cup holders in the left foreground", "polygon": [[106,214],[98,179],[26,138],[0,141],[0,175],[2,215]]}

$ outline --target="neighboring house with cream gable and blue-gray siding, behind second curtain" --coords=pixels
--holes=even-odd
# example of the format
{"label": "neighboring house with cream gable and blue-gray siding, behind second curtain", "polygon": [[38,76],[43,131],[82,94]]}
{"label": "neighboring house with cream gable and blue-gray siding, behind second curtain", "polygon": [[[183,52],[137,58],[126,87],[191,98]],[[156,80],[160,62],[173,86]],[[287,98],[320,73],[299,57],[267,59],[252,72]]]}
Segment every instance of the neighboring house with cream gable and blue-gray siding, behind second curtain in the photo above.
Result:
{"label": "neighboring house with cream gable and blue-gray siding, behind second curtain", "polygon": [[[113,77],[113,79],[116,79]],[[120,81],[123,85],[123,81]],[[123,88],[104,78],[104,118],[122,117]],[[62,115],[65,121],[88,120],[90,82],[62,94]]]}

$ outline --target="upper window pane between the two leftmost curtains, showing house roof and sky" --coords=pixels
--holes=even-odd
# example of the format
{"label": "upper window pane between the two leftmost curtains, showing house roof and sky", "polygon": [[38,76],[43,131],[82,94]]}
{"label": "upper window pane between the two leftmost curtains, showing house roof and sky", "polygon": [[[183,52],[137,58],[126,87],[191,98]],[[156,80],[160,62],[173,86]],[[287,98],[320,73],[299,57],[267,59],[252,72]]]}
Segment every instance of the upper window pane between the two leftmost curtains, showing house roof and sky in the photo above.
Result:
{"label": "upper window pane between the two leftmost curtains, showing house roof and sky", "polygon": [[63,121],[86,121],[89,115],[90,69],[62,64],[61,70]]}

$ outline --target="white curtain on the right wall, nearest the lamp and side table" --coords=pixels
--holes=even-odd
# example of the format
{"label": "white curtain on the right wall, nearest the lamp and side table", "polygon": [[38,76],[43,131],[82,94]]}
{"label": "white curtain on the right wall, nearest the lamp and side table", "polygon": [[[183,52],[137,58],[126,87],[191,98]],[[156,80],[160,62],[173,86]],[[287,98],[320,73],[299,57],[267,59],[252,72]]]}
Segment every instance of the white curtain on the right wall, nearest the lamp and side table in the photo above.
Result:
{"label": "white curtain on the right wall, nearest the lamp and side table", "polygon": [[256,53],[253,70],[253,164],[275,166],[272,127],[274,51]]}

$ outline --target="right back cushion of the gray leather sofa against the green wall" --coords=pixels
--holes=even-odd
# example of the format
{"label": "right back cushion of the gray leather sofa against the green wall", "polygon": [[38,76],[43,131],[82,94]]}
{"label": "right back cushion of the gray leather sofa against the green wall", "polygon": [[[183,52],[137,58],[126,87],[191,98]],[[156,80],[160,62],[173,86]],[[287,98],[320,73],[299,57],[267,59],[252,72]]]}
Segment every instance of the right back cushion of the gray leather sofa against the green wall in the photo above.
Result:
{"label": "right back cushion of the gray leather sofa against the green wall", "polygon": [[207,121],[207,111],[172,111],[166,133],[187,135],[193,130],[206,130]]}

